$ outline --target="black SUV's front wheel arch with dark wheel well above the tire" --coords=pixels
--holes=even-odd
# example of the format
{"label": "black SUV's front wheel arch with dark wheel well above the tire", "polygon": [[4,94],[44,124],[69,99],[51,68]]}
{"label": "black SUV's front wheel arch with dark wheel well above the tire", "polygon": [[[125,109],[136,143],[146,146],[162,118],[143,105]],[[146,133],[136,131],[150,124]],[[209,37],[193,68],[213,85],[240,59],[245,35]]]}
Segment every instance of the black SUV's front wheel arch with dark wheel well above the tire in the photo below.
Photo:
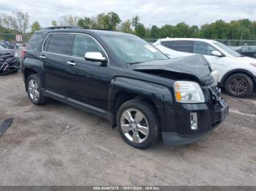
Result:
{"label": "black SUV's front wheel arch with dark wheel well above the tire", "polygon": [[[151,85],[151,89],[148,89],[148,85]],[[108,102],[108,111],[111,114],[109,120],[113,127],[116,126],[116,114],[121,104],[132,99],[141,99],[151,104],[157,111],[160,125],[160,110],[162,112],[162,109],[159,109],[159,107],[162,108],[166,104],[173,104],[172,95],[167,87],[138,79],[127,79],[123,77],[114,79],[110,85]]]}

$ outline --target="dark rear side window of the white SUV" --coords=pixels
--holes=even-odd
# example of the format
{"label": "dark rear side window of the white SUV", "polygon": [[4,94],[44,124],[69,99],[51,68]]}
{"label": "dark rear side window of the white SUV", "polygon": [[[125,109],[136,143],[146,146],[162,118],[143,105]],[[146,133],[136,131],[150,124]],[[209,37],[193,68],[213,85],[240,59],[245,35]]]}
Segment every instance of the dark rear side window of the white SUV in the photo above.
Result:
{"label": "dark rear side window of the white SUV", "polygon": [[173,41],[170,42],[170,48],[180,52],[192,53],[194,50],[194,42],[192,41]]}

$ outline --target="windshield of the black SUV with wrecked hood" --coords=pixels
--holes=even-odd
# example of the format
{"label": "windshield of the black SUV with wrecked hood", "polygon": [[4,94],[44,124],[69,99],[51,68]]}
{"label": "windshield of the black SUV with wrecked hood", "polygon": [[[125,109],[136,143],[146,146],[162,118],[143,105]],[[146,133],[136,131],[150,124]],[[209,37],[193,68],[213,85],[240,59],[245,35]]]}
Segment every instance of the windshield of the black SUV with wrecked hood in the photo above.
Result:
{"label": "windshield of the black SUV with wrecked hood", "polygon": [[125,63],[133,64],[168,59],[151,44],[136,36],[104,35],[102,39],[118,59]]}

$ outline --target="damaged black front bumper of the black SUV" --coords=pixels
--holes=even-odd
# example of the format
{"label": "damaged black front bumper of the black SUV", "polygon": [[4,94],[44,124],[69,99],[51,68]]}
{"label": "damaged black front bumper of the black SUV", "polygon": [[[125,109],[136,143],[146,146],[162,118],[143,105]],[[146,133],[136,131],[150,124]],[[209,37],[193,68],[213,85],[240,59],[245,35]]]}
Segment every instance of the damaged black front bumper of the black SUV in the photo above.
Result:
{"label": "damaged black front bumper of the black SUV", "polygon": [[[173,108],[165,109],[161,120],[162,141],[167,145],[181,145],[202,139],[225,120],[228,109],[229,106],[224,99],[219,103],[211,96],[203,104],[176,104]],[[192,113],[197,114],[196,129],[192,128]]]}

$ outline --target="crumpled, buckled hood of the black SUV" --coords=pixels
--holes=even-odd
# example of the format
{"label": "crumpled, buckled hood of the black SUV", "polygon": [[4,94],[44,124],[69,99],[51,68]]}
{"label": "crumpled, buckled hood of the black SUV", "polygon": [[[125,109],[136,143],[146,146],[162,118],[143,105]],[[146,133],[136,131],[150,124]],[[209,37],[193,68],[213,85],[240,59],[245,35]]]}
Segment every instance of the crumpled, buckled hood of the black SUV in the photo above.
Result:
{"label": "crumpled, buckled hood of the black SUV", "polygon": [[169,79],[193,80],[203,86],[214,83],[211,66],[203,55],[137,63],[132,64],[130,68]]}

